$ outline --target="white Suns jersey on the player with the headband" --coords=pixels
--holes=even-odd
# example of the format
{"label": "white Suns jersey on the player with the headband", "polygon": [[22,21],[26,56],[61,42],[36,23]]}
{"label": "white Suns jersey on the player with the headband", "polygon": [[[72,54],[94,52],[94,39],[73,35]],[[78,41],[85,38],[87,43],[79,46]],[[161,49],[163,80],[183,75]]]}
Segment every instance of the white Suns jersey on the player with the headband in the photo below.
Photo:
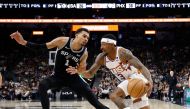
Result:
{"label": "white Suns jersey on the player with the headband", "polygon": [[134,66],[131,66],[129,64],[121,64],[118,55],[119,48],[121,47],[117,47],[115,60],[110,60],[106,56],[105,65],[116,76],[116,78],[118,78],[120,81],[124,81],[128,79],[130,75],[138,73],[138,70]]}

